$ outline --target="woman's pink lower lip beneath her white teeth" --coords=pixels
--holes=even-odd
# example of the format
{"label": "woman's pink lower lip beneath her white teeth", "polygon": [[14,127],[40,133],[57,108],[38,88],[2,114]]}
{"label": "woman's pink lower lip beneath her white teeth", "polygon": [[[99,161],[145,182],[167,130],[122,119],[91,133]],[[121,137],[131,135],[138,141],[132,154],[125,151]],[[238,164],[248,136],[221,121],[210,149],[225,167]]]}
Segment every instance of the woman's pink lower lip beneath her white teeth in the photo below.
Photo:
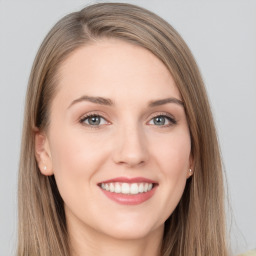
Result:
{"label": "woman's pink lower lip beneath her white teeth", "polygon": [[149,200],[156,191],[156,186],[153,187],[150,191],[145,193],[139,193],[136,195],[126,195],[126,194],[119,194],[110,191],[106,191],[100,188],[101,191],[111,200],[124,205],[137,205],[142,204],[143,202]]}

